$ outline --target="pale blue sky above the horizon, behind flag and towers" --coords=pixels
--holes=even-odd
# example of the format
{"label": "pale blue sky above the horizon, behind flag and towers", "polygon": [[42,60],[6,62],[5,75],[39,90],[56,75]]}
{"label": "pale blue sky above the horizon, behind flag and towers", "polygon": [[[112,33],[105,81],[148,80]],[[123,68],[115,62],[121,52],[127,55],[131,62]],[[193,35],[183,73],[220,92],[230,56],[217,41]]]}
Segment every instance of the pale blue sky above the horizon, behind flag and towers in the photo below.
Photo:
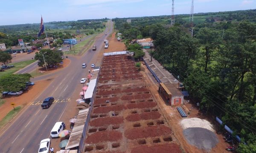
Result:
{"label": "pale blue sky above the horizon, behind flag and towers", "polygon": [[[174,0],[174,14],[190,14],[192,0]],[[0,0],[0,26],[51,21],[172,14],[172,0]],[[194,13],[255,9],[256,0],[194,0]]]}

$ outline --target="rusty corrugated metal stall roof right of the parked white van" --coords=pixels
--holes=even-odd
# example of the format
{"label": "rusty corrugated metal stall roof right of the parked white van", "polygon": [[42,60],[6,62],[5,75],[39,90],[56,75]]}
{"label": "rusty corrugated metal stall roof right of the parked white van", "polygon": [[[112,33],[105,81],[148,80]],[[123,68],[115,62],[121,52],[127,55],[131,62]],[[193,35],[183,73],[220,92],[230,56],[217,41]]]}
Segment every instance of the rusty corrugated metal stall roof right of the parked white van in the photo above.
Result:
{"label": "rusty corrugated metal stall roof right of the parked white van", "polygon": [[88,112],[89,112],[89,108],[79,111],[76,117],[77,121],[71,131],[70,138],[67,142],[67,146],[65,147],[65,150],[79,146],[79,142],[82,137],[84,124],[85,124]]}

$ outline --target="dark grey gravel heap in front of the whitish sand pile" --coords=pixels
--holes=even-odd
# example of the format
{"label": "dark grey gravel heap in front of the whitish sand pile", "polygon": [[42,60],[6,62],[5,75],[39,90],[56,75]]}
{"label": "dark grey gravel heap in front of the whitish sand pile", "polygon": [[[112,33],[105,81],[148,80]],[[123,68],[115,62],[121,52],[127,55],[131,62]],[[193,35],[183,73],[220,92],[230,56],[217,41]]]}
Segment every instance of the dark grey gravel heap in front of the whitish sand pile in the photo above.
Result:
{"label": "dark grey gravel heap in front of the whitish sand pile", "polygon": [[211,150],[218,143],[215,133],[201,127],[189,127],[183,130],[183,135],[189,144],[199,149]]}

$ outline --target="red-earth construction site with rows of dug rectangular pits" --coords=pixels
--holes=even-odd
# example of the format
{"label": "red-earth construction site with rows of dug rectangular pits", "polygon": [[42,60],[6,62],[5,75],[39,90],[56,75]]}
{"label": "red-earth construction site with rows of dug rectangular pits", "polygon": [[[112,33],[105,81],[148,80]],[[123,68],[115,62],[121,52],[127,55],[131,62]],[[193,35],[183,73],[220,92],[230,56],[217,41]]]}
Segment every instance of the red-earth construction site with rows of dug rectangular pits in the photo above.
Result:
{"label": "red-earth construction site with rows of dug rectangular pits", "polygon": [[104,56],[84,152],[181,153],[130,54]]}

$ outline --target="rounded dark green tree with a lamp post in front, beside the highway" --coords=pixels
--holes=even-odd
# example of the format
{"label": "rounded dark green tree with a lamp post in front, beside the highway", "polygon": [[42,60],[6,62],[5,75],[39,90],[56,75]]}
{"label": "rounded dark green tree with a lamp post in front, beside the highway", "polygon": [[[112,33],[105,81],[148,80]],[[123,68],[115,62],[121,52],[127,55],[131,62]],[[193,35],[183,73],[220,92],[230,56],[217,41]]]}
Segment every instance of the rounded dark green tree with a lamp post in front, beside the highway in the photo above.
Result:
{"label": "rounded dark green tree with a lamp post in front, beside the highway", "polygon": [[[43,57],[44,54],[44,57]],[[39,53],[35,53],[35,59],[38,60],[38,66],[44,67],[44,59],[47,64],[49,65],[57,65],[62,61],[62,51],[52,51],[50,49],[42,49]]]}

